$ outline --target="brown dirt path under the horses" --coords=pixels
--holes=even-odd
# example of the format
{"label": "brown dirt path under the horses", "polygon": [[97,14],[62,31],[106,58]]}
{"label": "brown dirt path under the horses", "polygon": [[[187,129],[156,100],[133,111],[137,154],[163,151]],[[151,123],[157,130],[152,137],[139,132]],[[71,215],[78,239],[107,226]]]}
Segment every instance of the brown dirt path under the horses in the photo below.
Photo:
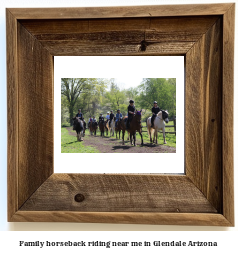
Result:
{"label": "brown dirt path under the horses", "polygon": [[[70,135],[75,136],[75,131],[72,127],[66,127]],[[127,135],[126,135],[127,138]],[[143,147],[140,145],[140,139],[136,141],[137,146],[131,146],[129,141],[125,140],[125,145],[122,145],[122,140],[116,137],[105,136],[101,138],[99,132],[97,136],[90,136],[88,134],[83,138],[85,146],[96,147],[101,153],[176,153],[176,148],[165,145],[154,145],[145,143]]]}

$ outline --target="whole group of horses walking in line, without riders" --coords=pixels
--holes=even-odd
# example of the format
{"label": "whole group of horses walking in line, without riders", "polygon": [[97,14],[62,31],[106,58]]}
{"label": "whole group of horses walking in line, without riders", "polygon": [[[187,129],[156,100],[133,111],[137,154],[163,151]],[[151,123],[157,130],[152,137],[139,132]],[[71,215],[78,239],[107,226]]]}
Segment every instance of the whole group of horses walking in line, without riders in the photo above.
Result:
{"label": "whole group of horses walking in line, without riders", "polygon": [[[120,136],[122,134],[122,144],[124,145],[124,138],[125,138],[125,133],[126,131],[128,132],[128,140],[130,139],[131,145],[136,145],[136,132],[140,134],[141,137],[141,145],[143,145],[143,136],[142,136],[142,127],[141,127],[141,111],[136,111],[130,124],[129,128],[127,128],[127,120],[128,117],[122,117],[120,118],[117,123],[115,117],[112,119],[112,121],[109,124],[109,121],[100,121],[99,123],[97,122],[90,122],[89,123],[89,131],[91,135],[96,136],[97,129],[99,127],[100,130],[100,135],[101,137],[104,137],[104,133],[106,132],[106,135],[110,132],[110,136],[114,136],[114,133],[116,132],[116,138],[117,136]],[[73,118],[74,121],[76,121],[77,126],[80,126],[80,128],[76,128],[77,132],[77,139],[82,140],[82,136],[85,135],[85,129],[86,129],[86,123],[81,121],[78,117]],[[80,123],[81,121],[81,123]],[[157,136],[158,136],[158,131],[162,130],[163,132],[163,138],[164,138],[164,144],[166,144],[165,140],[165,122],[168,123],[168,112],[165,110],[160,111],[155,119],[154,119],[154,127],[151,128],[151,117],[147,119],[147,131],[150,137],[150,142],[151,143],[156,143],[157,144]],[[78,124],[79,123],[79,124]],[[153,137],[153,140],[152,140]]]}

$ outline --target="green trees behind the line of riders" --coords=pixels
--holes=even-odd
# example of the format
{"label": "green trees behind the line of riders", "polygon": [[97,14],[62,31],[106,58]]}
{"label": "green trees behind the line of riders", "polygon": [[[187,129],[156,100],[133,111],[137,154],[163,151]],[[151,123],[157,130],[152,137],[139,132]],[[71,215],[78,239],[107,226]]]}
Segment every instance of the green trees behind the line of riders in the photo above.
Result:
{"label": "green trees behind the line of riders", "polygon": [[160,109],[168,110],[169,117],[176,116],[176,79],[144,78],[141,85],[120,89],[115,79],[103,78],[62,78],[61,80],[61,125],[70,123],[80,108],[84,118],[98,119],[100,113],[117,109],[127,114],[129,100],[135,101],[138,110],[143,109],[142,120],[152,115],[151,108],[156,100]]}

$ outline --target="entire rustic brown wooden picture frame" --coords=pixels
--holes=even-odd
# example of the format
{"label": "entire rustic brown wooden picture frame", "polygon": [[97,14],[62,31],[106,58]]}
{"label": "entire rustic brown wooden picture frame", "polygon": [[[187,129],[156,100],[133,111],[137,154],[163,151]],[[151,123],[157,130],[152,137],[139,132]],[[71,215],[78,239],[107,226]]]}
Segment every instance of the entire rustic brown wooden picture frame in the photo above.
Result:
{"label": "entire rustic brown wooden picture frame", "polygon": [[[234,17],[233,3],[7,9],[8,220],[234,226]],[[184,55],[186,175],[54,174],[56,55]]]}

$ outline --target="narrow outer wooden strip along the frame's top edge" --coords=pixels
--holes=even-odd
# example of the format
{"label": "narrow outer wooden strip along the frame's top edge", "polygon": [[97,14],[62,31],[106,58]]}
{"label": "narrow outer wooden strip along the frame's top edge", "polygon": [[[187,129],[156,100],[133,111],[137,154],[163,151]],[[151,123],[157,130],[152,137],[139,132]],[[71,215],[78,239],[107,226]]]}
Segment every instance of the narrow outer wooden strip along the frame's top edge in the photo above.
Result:
{"label": "narrow outer wooden strip along the frame's top edge", "polygon": [[232,6],[223,4],[150,5],[83,8],[10,8],[17,19],[96,19],[222,15]]}

